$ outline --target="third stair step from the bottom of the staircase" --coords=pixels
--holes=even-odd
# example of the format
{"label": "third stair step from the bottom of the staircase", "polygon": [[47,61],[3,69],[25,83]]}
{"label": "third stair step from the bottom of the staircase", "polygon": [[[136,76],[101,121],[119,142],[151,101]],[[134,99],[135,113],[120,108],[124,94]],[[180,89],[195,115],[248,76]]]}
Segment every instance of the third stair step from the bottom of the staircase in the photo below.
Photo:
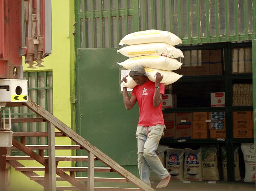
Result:
{"label": "third stair step from the bottom of the staircase", "polygon": [[[65,172],[87,172],[87,167],[58,167]],[[44,167],[18,167],[15,171],[44,171]],[[94,172],[114,172],[108,167],[94,167]]]}

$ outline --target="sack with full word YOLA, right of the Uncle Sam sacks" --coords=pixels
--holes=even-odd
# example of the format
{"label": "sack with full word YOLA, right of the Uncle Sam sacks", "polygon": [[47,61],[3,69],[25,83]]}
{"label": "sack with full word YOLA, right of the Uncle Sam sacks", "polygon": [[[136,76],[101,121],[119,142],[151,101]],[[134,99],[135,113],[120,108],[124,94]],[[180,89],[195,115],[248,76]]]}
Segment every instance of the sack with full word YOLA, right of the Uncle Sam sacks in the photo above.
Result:
{"label": "sack with full word YOLA, right of the Uncle Sam sacks", "polygon": [[217,152],[218,149],[216,145],[207,147],[202,146],[202,171],[203,171],[203,180],[217,181],[219,180],[219,171],[218,171],[218,158]]}

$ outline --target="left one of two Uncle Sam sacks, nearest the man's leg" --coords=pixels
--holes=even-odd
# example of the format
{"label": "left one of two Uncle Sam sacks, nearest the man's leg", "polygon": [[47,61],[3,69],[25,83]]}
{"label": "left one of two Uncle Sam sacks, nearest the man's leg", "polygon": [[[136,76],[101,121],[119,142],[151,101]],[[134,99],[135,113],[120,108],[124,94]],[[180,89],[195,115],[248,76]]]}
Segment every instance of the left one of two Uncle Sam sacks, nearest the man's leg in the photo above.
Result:
{"label": "left one of two Uncle Sam sacks, nearest the man's leg", "polygon": [[184,149],[168,148],[166,153],[166,169],[171,175],[172,180],[183,180],[184,176]]}

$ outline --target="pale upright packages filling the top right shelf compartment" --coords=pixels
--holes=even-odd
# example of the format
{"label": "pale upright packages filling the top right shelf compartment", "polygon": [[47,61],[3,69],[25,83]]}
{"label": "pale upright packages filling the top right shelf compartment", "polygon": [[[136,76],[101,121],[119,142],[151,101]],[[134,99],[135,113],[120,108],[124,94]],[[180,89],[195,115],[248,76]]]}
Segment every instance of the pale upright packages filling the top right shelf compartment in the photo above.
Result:
{"label": "pale upright packages filling the top right shelf compartment", "polygon": [[252,48],[234,48],[231,50],[232,73],[252,73]]}

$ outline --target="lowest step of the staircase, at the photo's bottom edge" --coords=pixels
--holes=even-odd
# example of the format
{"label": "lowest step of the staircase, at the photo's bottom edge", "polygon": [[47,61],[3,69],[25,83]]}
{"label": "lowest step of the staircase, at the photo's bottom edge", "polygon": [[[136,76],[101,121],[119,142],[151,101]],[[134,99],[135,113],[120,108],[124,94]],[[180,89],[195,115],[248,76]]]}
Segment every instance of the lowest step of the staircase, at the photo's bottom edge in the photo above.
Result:
{"label": "lowest step of the staircase, at the photo's bottom edge", "polygon": [[[56,190],[80,190],[73,186],[57,186]],[[139,188],[94,187],[95,191],[141,191]]]}

